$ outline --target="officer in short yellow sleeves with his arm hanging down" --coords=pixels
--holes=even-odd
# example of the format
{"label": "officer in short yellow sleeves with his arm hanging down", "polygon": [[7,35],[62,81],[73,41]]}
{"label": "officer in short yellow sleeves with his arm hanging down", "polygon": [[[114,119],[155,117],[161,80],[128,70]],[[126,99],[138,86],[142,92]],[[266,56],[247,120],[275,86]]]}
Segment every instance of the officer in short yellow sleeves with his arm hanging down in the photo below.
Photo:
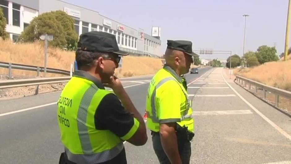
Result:
{"label": "officer in short yellow sleeves with his arm hanging down", "polygon": [[187,85],[192,42],[168,40],[166,64],[153,77],[146,99],[147,127],[151,130],[154,152],[161,164],[189,164],[194,120]]}

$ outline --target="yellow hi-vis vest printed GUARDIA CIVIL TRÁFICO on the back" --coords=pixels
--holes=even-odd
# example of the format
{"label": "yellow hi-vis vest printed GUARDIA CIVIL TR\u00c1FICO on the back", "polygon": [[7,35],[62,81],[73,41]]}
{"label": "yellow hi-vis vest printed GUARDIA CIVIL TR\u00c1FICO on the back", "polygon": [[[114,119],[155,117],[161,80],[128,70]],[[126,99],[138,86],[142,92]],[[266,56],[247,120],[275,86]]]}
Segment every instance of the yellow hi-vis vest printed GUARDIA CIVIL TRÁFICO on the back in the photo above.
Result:
{"label": "yellow hi-vis vest printed GUARDIA CIVIL TR\u00c1FICO on the back", "polygon": [[[72,77],[63,89],[58,101],[58,116],[65,117],[70,124],[65,126],[59,121],[59,127],[70,161],[82,164],[102,163],[116,157],[123,150],[123,142],[118,136],[109,130],[97,130],[94,124],[94,113],[102,98],[109,93],[79,77]],[[71,99],[71,105],[66,105],[67,101],[62,99],[64,97]]]}

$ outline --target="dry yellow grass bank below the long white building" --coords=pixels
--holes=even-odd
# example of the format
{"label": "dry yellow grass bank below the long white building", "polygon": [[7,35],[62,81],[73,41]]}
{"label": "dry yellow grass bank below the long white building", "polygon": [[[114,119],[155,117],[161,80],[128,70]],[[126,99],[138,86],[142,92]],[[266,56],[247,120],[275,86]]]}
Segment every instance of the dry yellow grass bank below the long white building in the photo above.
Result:
{"label": "dry yellow grass bank below the long white building", "polygon": [[[48,67],[70,70],[70,64],[75,60],[75,52],[60,49],[48,49]],[[44,43],[13,44],[11,41],[0,40],[0,61],[34,66],[44,66]],[[123,58],[123,67],[116,69],[118,77],[130,77],[137,75],[154,74],[161,69],[161,59],[150,57],[126,56]],[[0,68],[0,74],[8,73],[8,69]],[[36,76],[36,72],[12,70],[14,76]],[[48,74],[49,77],[61,76]]]}

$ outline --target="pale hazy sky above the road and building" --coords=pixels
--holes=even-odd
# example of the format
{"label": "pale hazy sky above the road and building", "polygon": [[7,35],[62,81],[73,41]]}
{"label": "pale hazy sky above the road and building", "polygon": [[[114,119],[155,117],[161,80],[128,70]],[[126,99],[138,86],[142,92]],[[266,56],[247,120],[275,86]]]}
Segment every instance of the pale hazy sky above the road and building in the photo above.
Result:
{"label": "pale hazy sky above the road and building", "polygon": [[[288,0],[64,0],[99,14],[144,29],[161,27],[163,54],[167,39],[190,40],[195,50],[231,50],[242,55],[244,17],[245,52],[260,45],[284,51]],[[209,55],[201,55],[209,58]],[[226,58],[226,55],[211,55]]]}

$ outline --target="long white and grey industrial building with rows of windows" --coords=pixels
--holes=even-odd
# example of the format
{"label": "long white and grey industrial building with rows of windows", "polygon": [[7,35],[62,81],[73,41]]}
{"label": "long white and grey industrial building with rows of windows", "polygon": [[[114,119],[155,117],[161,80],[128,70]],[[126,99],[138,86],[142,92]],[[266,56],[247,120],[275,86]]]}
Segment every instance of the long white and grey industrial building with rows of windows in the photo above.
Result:
{"label": "long white and grey industrial building with rows of windows", "polygon": [[61,10],[75,20],[75,30],[80,35],[88,31],[112,33],[120,50],[133,55],[161,56],[160,28],[152,27],[151,35],[143,29],[133,29],[116,20],[102,16],[98,11],[76,6],[60,0],[0,0],[0,7],[7,20],[6,31],[16,41],[30,21],[38,15]]}

